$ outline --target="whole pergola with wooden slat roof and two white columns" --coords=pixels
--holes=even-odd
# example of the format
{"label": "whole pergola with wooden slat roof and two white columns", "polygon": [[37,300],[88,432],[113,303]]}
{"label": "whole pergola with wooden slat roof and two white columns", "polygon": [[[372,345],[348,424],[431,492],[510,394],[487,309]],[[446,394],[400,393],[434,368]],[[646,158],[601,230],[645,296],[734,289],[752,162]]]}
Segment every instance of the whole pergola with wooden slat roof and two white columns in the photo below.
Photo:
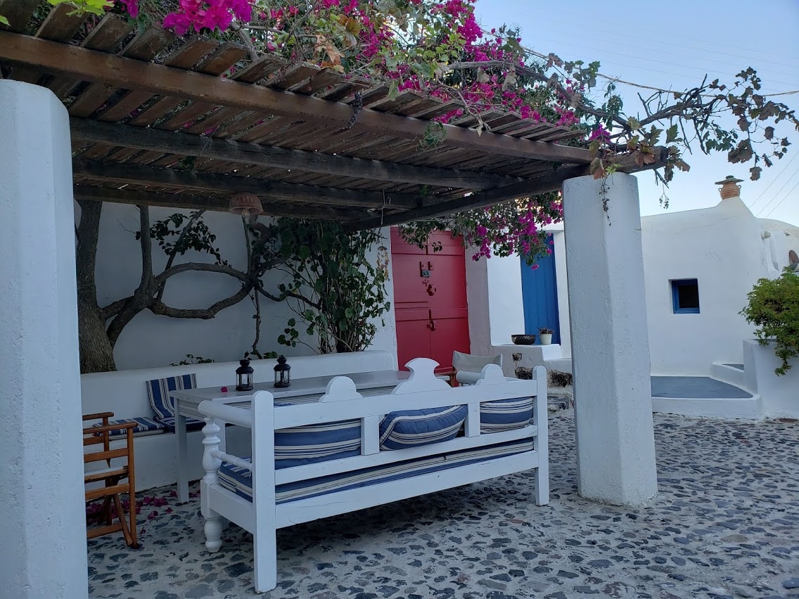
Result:
{"label": "whole pergola with wooden slat roof and two white columns", "polygon": [[61,5],[39,22],[46,6],[0,0],[10,596],[86,593],[73,198],[226,211],[252,192],[267,214],[358,229],[563,188],[579,490],[626,505],[657,492],[638,190],[623,173],[663,153],[643,167],[617,157],[619,174],[593,180],[581,133],[499,112],[479,115],[482,132],[474,116],[451,121],[423,149],[431,119],[458,102],[389,97],[382,82],[113,14]]}

